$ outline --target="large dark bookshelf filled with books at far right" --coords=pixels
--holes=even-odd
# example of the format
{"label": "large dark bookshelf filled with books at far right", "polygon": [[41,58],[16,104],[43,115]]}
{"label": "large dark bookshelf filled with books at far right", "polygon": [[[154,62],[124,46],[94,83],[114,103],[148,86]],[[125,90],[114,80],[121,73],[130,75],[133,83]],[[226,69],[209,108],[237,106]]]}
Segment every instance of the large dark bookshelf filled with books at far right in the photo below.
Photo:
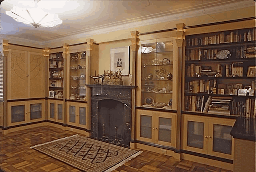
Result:
{"label": "large dark bookshelf filled with books at far right", "polygon": [[255,118],[256,30],[186,36],[184,110]]}

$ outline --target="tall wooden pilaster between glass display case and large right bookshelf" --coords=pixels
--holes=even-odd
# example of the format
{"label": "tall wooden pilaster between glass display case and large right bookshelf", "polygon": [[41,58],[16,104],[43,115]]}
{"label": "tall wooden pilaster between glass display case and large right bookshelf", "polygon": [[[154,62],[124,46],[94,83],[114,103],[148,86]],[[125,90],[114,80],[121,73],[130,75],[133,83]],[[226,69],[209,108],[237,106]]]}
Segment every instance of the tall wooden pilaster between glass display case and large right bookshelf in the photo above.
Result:
{"label": "tall wooden pilaster between glass display case and large right bookshelf", "polygon": [[[185,32],[184,32],[184,23],[176,24],[177,31],[176,31],[176,43],[177,43],[177,120],[176,120],[176,153],[180,153],[181,149],[181,110],[182,110],[182,52],[183,52],[183,41],[185,40]],[[177,156],[175,158],[180,159],[180,156]]]}

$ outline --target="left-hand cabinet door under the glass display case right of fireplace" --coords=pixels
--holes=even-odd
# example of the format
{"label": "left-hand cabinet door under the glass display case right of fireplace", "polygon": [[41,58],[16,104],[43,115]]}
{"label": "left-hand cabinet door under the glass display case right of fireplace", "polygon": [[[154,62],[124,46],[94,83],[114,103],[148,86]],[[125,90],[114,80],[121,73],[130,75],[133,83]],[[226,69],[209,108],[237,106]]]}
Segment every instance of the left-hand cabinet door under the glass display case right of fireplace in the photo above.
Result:
{"label": "left-hand cabinet door under the glass display case right of fireplace", "polygon": [[155,140],[155,113],[148,110],[137,110],[136,118],[137,140],[153,143]]}

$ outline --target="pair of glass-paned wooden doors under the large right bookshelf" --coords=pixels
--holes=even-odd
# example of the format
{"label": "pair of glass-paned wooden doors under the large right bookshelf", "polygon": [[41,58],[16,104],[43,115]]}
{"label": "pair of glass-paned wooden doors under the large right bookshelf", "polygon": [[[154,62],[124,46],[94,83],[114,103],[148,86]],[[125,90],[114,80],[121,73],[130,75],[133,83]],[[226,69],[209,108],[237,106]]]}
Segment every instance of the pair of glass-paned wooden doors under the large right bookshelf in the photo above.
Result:
{"label": "pair of glass-paned wooden doors under the large right bookshelf", "polygon": [[183,150],[234,159],[234,138],[230,131],[235,119],[182,115]]}

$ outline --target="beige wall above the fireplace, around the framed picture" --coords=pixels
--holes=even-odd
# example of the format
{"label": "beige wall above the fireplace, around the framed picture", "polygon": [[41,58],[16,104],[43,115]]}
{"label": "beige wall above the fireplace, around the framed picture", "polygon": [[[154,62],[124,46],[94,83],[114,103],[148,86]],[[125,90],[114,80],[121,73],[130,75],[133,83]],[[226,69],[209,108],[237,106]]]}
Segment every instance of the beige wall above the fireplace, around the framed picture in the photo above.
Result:
{"label": "beige wall above the fireplace, around the framed picture", "polygon": [[[130,34],[130,32],[129,32]],[[131,37],[131,36],[130,36]],[[130,39],[114,42],[105,42],[99,45],[99,74],[104,74],[104,70],[110,70],[110,49],[130,46]],[[132,71],[132,50],[130,48],[130,72]],[[122,76],[124,85],[128,85],[128,76]]]}

